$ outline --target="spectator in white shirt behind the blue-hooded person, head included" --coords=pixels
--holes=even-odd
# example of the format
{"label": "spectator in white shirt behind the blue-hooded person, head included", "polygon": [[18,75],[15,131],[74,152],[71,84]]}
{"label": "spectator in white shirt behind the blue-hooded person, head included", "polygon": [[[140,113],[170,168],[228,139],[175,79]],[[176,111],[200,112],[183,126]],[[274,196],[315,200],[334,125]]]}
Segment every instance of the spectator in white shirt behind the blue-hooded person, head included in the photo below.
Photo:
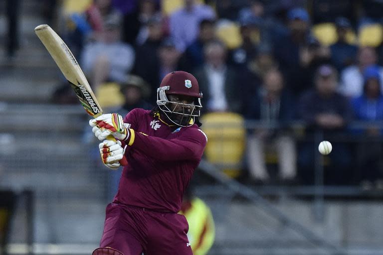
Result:
{"label": "spectator in white shirt behind the blue-hooded person, head included", "polygon": [[[353,98],[363,93],[363,72],[366,67],[377,64],[378,56],[374,48],[362,47],[358,52],[358,63],[342,71],[341,88],[343,95]],[[383,67],[379,67],[381,79],[383,78]]]}

